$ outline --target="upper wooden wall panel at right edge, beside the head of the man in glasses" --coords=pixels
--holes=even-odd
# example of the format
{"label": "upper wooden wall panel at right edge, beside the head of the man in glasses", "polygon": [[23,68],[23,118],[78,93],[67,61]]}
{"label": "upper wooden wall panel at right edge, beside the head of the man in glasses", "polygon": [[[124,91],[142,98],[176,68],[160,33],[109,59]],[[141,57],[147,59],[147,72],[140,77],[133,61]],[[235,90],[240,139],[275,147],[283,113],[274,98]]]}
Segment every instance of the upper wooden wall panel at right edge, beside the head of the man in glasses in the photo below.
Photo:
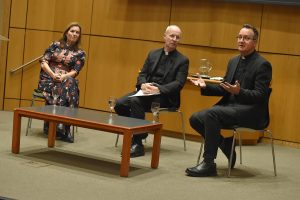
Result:
{"label": "upper wooden wall panel at right edge, beside the head of the man in glasses", "polygon": [[300,55],[299,24],[299,6],[265,6],[260,51]]}

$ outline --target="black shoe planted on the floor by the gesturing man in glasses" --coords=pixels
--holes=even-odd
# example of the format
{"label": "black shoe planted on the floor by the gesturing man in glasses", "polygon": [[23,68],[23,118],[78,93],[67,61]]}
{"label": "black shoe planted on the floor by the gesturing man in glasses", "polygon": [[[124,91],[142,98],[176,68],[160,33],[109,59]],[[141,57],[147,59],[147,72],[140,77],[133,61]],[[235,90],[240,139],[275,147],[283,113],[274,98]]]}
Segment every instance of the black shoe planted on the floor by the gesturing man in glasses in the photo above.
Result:
{"label": "black shoe planted on the floor by the gesturing man in glasses", "polygon": [[195,167],[190,167],[185,170],[188,176],[192,177],[208,177],[217,175],[217,165],[216,163],[206,163],[202,161],[199,165]]}

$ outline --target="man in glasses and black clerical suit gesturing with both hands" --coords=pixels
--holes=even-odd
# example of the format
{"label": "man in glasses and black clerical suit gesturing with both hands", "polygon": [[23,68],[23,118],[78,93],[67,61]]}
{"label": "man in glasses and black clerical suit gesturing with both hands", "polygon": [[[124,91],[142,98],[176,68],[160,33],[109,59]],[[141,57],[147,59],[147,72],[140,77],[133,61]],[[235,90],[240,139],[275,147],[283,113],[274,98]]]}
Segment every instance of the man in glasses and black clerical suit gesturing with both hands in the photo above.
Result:
{"label": "man in glasses and black clerical suit gesturing with both hands", "polygon": [[[222,128],[241,126],[263,129],[267,126],[269,85],[272,79],[271,64],[255,50],[258,31],[245,24],[237,36],[240,55],[230,59],[224,82],[219,85],[206,84],[199,78],[192,81],[200,86],[201,95],[222,96],[212,108],[194,113],[190,125],[205,139],[204,160],[195,167],[186,169],[188,176],[216,176],[218,147],[230,159],[233,138],[224,138]],[[234,168],[234,151],[231,168]]]}

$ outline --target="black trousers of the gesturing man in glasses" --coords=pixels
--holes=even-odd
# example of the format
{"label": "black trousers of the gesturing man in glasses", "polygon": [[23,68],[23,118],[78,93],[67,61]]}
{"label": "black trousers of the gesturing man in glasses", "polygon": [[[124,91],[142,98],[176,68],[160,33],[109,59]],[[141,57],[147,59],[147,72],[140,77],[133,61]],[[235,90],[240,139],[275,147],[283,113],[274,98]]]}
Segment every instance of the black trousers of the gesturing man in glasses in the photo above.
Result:
{"label": "black trousers of the gesturing man in glasses", "polygon": [[215,105],[212,108],[194,113],[190,117],[190,125],[205,139],[205,160],[214,160],[217,157],[218,147],[223,141],[221,129],[232,128],[238,125],[239,120],[234,106]]}

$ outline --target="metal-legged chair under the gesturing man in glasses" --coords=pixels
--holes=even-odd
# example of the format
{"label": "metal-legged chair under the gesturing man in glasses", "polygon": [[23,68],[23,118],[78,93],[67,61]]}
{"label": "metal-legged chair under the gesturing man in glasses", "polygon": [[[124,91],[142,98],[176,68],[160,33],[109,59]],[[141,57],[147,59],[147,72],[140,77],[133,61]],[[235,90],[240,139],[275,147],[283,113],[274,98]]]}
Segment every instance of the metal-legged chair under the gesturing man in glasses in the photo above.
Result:
{"label": "metal-legged chair under the gesturing man in glasses", "polygon": [[[271,95],[272,92],[272,88],[269,88],[269,97]],[[268,105],[269,107],[269,105]],[[273,168],[274,168],[274,176],[277,176],[277,171],[276,171],[276,161],[275,161],[275,152],[274,152],[274,145],[273,145],[273,135],[272,132],[267,129],[267,127],[269,126],[269,122],[270,122],[270,116],[269,116],[269,109],[267,112],[267,116],[266,116],[266,128],[265,129],[252,129],[252,128],[246,128],[246,127],[239,127],[239,126],[234,126],[232,129],[233,131],[233,142],[232,142],[232,147],[231,147],[231,152],[230,152],[230,159],[228,162],[228,174],[227,176],[230,177],[230,173],[231,173],[231,163],[232,163],[232,155],[233,155],[233,150],[235,147],[235,139],[236,139],[236,135],[238,135],[239,138],[239,150],[240,150],[240,164],[242,164],[242,139],[241,139],[241,133],[242,131],[246,131],[246,132],[261,132],[263,133],[263,135],[265,135],[265,133],[269,134],[270,137],[270,144],[271,144],[271,151],[272,151],[272,158],[273,158]],[[204,141],[201,143],[200,146],[200,151],[199,151],[199,155],[198,155],[198,159],[197,159],[197,164],[200,163],[200,157],[202,154],[202,149],[203,149],[203,144]]]}

